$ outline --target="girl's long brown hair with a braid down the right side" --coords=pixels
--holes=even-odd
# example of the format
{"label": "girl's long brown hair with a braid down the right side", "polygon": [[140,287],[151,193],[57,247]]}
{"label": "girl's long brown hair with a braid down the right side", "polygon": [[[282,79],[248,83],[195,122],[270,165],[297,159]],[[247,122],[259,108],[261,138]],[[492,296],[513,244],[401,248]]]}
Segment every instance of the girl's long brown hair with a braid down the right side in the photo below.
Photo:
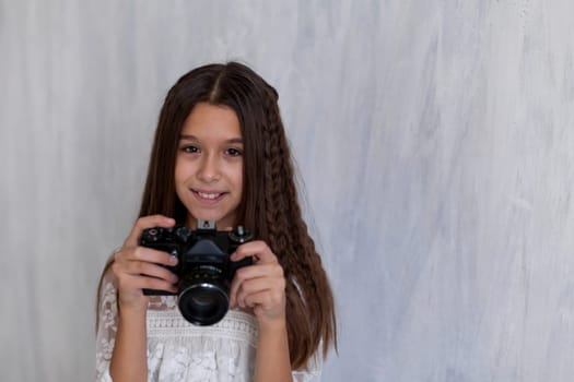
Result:
{"label": "girl's long brown hair with a braid down the right side", "polygon": [[337,346],[337,324],[331,288],[302,217],[272,86],[237,62],[203,65],[181,76],[160,114],[139,216],[162,214],[185,223],[187,210],[175,192],[175,162],[184,121],[198,103],[230,107],[239,119],[244,190],[236,224],[266,241],[283,267],[291,363],[304,367],[321,342],[324,355]]}

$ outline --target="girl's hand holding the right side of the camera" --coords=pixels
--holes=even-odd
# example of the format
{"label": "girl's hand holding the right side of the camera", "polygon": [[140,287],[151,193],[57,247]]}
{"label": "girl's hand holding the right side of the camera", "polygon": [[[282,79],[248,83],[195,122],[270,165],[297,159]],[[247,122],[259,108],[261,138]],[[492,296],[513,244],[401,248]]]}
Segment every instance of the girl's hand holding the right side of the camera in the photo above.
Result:
{"label": "girl's hand holding the right side of the camera", "polygon": [[285,277],[283,267],[265,241],[249,241],[231,256],[253,256],[254,264],[235,272],[230,288],[231,307],[253,308],[259,324],[285,323]]}

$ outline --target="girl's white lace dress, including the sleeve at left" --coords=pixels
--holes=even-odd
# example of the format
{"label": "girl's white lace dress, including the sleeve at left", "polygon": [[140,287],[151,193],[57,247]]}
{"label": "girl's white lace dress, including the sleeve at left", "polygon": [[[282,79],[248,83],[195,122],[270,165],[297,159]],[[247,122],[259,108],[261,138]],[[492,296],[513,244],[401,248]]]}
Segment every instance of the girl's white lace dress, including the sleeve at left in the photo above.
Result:
{"label": "girl's white lace dress, including the sleeve at left", "polygon": [[[109,381],[109,361],[117,331],[116,288],[108,278],[101,290],[96,336],[96,381]],[[247,382],[253,380],[257,346],[254,315],[230,310],[212,326],[195,326],[179,313],[174,296],[153,297],[148,309],[148,381]],[[320,381],[320,357],[296,382]]]}

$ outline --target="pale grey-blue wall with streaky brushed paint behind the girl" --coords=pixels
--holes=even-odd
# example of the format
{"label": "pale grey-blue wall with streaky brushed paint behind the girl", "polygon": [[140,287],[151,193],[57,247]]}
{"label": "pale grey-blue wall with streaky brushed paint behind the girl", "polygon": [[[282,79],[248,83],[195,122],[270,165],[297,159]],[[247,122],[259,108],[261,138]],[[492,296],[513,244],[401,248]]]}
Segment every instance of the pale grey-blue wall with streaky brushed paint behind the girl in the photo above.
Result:
{"label": "pale grey-blue wall with streaky brushed paint behind the girl", "polygon": [[574,2],[0,0],[2,381],[84,381],[166,89],[274,84],[339,307],[325,381],[571,381]]}

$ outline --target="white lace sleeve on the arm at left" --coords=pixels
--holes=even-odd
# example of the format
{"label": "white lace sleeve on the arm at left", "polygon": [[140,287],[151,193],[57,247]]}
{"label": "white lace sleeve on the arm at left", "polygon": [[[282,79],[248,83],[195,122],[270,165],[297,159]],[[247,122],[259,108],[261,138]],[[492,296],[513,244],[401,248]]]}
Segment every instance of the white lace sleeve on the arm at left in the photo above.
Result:
{"label": "white lace sleeve on the arm at left", "polygon": [[96,381],[112,382],[109,375],[109,361],[116,341],[118,330],[117,317],[117,291],[112,283],[109,272],[106,272],[99,289],[99,305],[97,307],[97,333],[96,333]]}

